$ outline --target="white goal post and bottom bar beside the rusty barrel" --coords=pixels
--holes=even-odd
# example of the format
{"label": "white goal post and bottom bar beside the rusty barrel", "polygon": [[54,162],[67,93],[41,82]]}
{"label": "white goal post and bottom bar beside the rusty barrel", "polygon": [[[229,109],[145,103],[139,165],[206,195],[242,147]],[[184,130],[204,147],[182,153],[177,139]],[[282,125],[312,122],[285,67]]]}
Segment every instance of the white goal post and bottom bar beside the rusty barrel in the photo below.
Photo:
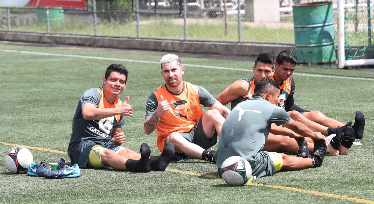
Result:
{"label": "white goal post and bottom bar beside the rusty barrel", "polygon": [[[370,0],[368,0],[370,2]],[[370,7],[370,6],[368,6]],[[374,59],[356,59],[346,60],[345,57],[345,38],[344,38],[344,23],[346,8],[345,0],[337,0],[337,16],[338,16],[338,68],[344,68],[348,66],[364,66],[374,65]],[[370,9],[370,8],[369,8]]]}

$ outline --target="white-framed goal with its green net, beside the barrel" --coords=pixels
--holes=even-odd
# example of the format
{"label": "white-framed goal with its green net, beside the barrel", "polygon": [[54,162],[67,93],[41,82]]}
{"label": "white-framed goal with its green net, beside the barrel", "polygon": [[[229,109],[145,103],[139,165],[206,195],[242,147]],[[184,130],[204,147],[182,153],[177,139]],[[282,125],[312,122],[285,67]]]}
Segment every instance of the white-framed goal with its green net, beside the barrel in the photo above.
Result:
{"label": "white-framed goal with its green net, beside the barrel", "polygon": [[338,0],[339,68],[374,65],[373,1]]}

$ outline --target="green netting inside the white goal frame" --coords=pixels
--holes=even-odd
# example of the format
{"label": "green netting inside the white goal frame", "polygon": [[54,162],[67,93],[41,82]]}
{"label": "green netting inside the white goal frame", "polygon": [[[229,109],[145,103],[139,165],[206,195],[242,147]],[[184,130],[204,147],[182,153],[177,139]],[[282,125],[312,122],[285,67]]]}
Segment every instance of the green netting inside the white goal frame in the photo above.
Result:
{"label": "green netting inside the white goal frame", "polygon": [[374,7],[371,1],[373,0],[346,0],[344,22],[346,60],[374,58]]}

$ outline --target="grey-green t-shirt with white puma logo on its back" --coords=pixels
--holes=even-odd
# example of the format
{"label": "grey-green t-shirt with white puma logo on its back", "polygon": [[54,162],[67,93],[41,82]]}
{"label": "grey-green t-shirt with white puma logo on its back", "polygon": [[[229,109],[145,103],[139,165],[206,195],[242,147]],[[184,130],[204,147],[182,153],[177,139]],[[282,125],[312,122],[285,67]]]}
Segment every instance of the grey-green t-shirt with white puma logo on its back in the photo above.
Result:
{"label": "grey-green t-shirt with white puma logo on its back", "polygon": [[272,123],[282,125],[291,121],[285,110],[262,97],[239,103],[223,123],[217,151],[217,167],[231,156],[241,156],[255,166],[257,153],[264,147]]}

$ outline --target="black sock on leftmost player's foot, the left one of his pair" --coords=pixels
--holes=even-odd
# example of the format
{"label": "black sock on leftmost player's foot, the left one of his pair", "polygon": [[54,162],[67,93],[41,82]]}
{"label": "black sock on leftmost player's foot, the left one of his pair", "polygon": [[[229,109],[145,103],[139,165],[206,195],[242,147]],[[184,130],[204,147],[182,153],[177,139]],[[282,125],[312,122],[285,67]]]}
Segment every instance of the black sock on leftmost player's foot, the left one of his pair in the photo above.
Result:
{"label": "black sock on leftmost player's foot, the left one of his pair", "polygon": [[140,146],[140,160],[128,159],[126,161],[126,169],[133,172],[150,172],[151,167],[149,165],[149,156],[151,150],[147,143],[143,143]]}

